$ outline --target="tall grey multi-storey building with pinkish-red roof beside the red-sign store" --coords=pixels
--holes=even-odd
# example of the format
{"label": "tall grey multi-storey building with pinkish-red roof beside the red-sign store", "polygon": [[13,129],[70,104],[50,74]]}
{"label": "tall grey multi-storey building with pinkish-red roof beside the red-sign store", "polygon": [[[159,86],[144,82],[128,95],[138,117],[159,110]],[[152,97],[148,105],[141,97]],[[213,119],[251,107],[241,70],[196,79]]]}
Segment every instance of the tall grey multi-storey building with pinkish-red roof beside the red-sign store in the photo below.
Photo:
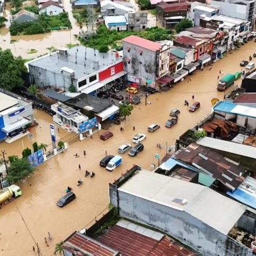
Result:
{"label": "tall grey multi-storey building with pinkish-red roof beside the red-sign store", "polygon": [[139,79],[144,85],[150,80],[156,84],[157,79],[169,73],[169,50],[169,44],[161,45],[138,36],[124,38],[123,57],[128,80]]}

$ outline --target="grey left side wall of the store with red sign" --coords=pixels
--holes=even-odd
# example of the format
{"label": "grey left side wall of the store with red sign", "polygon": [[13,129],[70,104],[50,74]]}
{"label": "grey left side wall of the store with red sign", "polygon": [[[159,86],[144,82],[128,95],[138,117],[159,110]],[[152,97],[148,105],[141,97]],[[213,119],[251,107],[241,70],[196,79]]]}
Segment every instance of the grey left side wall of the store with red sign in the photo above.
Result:
{"label": "grey left side wall of the store with red sign", "polygon": [[[29,75],[31,84],[36,84],[39,87],[54,86],[60,89],[68,90],[71,82],[69,74],[53,73],[51,70],[46,70],[40,67],[35,67],[29,64]],[[73,82],[76,85],[76,81]]]}

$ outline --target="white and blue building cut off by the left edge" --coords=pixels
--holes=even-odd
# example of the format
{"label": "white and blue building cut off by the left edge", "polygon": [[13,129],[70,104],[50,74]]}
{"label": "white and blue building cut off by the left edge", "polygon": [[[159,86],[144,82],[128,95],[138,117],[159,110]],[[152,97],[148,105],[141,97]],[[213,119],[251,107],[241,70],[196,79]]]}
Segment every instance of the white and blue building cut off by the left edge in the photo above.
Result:
{"label": "white and blue building cut off by the left edge", "polygon": [[11,143],[29,134],[34,125],[32,102],[0,92],[0,141]]}

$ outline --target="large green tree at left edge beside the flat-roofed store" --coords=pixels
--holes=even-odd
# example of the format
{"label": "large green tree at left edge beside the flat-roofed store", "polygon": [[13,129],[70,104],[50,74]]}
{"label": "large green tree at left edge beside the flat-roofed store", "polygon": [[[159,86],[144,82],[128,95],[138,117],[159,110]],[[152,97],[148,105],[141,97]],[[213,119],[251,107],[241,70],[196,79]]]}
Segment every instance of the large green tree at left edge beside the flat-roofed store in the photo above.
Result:
{"label": "large green tree at left edge beside the flat-roofed store", "polygon": [[21,57],[14,57],[11,50],[0,47],[0,87],[9,91],[18,91],[24,85],[22,76],[27,73]]}

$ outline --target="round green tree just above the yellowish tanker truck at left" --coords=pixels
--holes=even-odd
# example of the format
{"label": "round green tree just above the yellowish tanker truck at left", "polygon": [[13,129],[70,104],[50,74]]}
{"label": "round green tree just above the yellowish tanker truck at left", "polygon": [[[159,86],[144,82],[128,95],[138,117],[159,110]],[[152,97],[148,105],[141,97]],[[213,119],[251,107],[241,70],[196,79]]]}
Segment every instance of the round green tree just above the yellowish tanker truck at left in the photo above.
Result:
{"label": "round green tree just above the yellowish tanker truck at left", "polygon": [[34,172],[27,158],[17,158],[8,168],[6,179],[9,182],[18,182]]}

